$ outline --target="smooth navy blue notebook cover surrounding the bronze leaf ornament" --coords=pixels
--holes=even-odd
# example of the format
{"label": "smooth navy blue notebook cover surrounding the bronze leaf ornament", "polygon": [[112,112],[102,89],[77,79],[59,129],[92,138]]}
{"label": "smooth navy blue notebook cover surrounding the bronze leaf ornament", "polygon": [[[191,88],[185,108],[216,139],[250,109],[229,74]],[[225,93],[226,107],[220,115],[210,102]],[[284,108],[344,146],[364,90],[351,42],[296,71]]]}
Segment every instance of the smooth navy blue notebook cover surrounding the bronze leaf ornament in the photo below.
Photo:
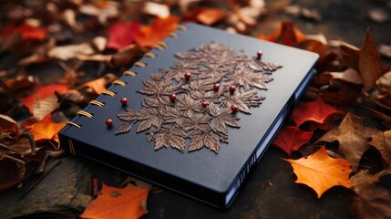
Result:
{"label": "smooth navy blue notebook cover surrounding the bronze leaf ornament", "polygon": [[[303,92],[303,89],[298,88],[309,82],[318,55],[211,27],[195,24],[186,26],[187,31],[176,31],[179,38],[169,36],[164,40],[167,48],[150,50],[157,57],[143,57],[139,60],[147,65],[146,68],[130,68],[137,76],[124,75],[120,78],[128,83],[126,87],[111,85],[108,89],[117,93],[115,97],[100,95],[97,100],[105,103],[103,107],[88,105],[84,110],[91,113],[92,118],[77,115],[71,121],[80,128],[67,125],[59,132],[59,139],[64,149],[77,155],[106,163],[202,202],[227,207],[232,203],[252,164],[257,162],[272,141],[275,130],[280,128],[277,120],[281,121],[287,116]],[[268,90],[257,90],[260,96],[266,97],[261,106],[252,108],[251,115],[240,113],[240,129],[229,128],[229,144],[221,143],[218,154],[207,149],[184,153],[171,148],[155,151],[154,143],[147,141],[145,131],[136,133],[132,129],[129,133],[114,134],[121,123],[117,114],[124,112],[119,103],[121,98],[128,98],[127,108],[139,110],[145,96],[137,90],[144,88],[143,79],[150,79],[150,74],[159,72],[160,68],[170,70],[170,66],[179,60],[174,56],[175,53],[188,52],[190,48],[211,41],[236,51],[243,49],[248,57],[255,56],[262,49],[263,61],[283,66],[273,72],[274,79],[268,83]],[[105,125],[108,118],[114,120],[112,129]],[[269,133],[272,135],[268,136]]]}

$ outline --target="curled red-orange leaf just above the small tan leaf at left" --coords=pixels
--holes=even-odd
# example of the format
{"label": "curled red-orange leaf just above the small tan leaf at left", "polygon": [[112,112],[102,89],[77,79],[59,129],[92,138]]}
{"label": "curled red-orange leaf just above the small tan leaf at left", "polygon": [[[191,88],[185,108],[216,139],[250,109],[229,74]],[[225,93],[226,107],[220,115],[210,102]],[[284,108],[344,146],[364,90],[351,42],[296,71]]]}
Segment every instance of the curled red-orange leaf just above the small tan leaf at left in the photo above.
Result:
{"label": "curled red-orange leaf just above the small tan leaf at left", "polygon": [[28,110],[33,111],[33,103],[37,97],[46,99],[47,96],[54,94],[55,91],[58,93],[65,93],[67,90],[67,86],[63,84],[41,86],[36,89],[36,92],[33,95],[26,98],[19,98],[19,100],[28,108]]}

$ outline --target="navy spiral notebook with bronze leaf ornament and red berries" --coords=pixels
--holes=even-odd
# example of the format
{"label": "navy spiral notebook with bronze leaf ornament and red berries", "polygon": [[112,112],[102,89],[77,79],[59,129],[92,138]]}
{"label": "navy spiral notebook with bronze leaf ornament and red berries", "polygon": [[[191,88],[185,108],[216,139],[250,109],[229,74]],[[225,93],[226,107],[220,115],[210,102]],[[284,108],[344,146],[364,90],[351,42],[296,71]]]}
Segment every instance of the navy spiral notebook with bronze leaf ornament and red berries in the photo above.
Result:
{"label": "navy spiral notebook with bronze leaf ornament and red berries", "polygon": [[227,208],[314,76],[317,54],[197,24],[153,47],[59,132],[61,146]]}

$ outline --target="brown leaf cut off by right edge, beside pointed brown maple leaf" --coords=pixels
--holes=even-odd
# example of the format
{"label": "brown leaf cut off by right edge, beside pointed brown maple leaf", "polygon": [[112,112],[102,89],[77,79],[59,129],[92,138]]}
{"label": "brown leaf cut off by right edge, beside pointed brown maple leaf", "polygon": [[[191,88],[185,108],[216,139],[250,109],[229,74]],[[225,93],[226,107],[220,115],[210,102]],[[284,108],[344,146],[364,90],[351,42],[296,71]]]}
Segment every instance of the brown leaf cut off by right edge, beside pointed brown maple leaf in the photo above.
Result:
{"label": "brown leaf cut off by right edge, beside pointed brown maple leaf", "polygon": [[377,131],[368,143],[380,152],[386,166],[391,165],[391,130]]}

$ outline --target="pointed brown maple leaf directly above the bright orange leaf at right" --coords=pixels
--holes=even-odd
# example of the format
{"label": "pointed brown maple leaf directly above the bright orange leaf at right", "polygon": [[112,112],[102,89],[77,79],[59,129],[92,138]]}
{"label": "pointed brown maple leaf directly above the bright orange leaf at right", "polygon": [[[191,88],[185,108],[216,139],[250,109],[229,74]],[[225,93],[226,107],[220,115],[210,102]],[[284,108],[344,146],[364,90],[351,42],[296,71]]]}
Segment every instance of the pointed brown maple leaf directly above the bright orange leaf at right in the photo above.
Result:
{"label": "pointed brown maple leaf directly above the bright orange leaf at right", "polygon": [[364,127],[363,120],[349,112],[338,128],[329,130],[317,141],[338,141],[338,152],[343,154],[347,161],[353,163],[354,171],[357,170],[361,157],[369,148],[367,141],[378,131],[375,128]]}

